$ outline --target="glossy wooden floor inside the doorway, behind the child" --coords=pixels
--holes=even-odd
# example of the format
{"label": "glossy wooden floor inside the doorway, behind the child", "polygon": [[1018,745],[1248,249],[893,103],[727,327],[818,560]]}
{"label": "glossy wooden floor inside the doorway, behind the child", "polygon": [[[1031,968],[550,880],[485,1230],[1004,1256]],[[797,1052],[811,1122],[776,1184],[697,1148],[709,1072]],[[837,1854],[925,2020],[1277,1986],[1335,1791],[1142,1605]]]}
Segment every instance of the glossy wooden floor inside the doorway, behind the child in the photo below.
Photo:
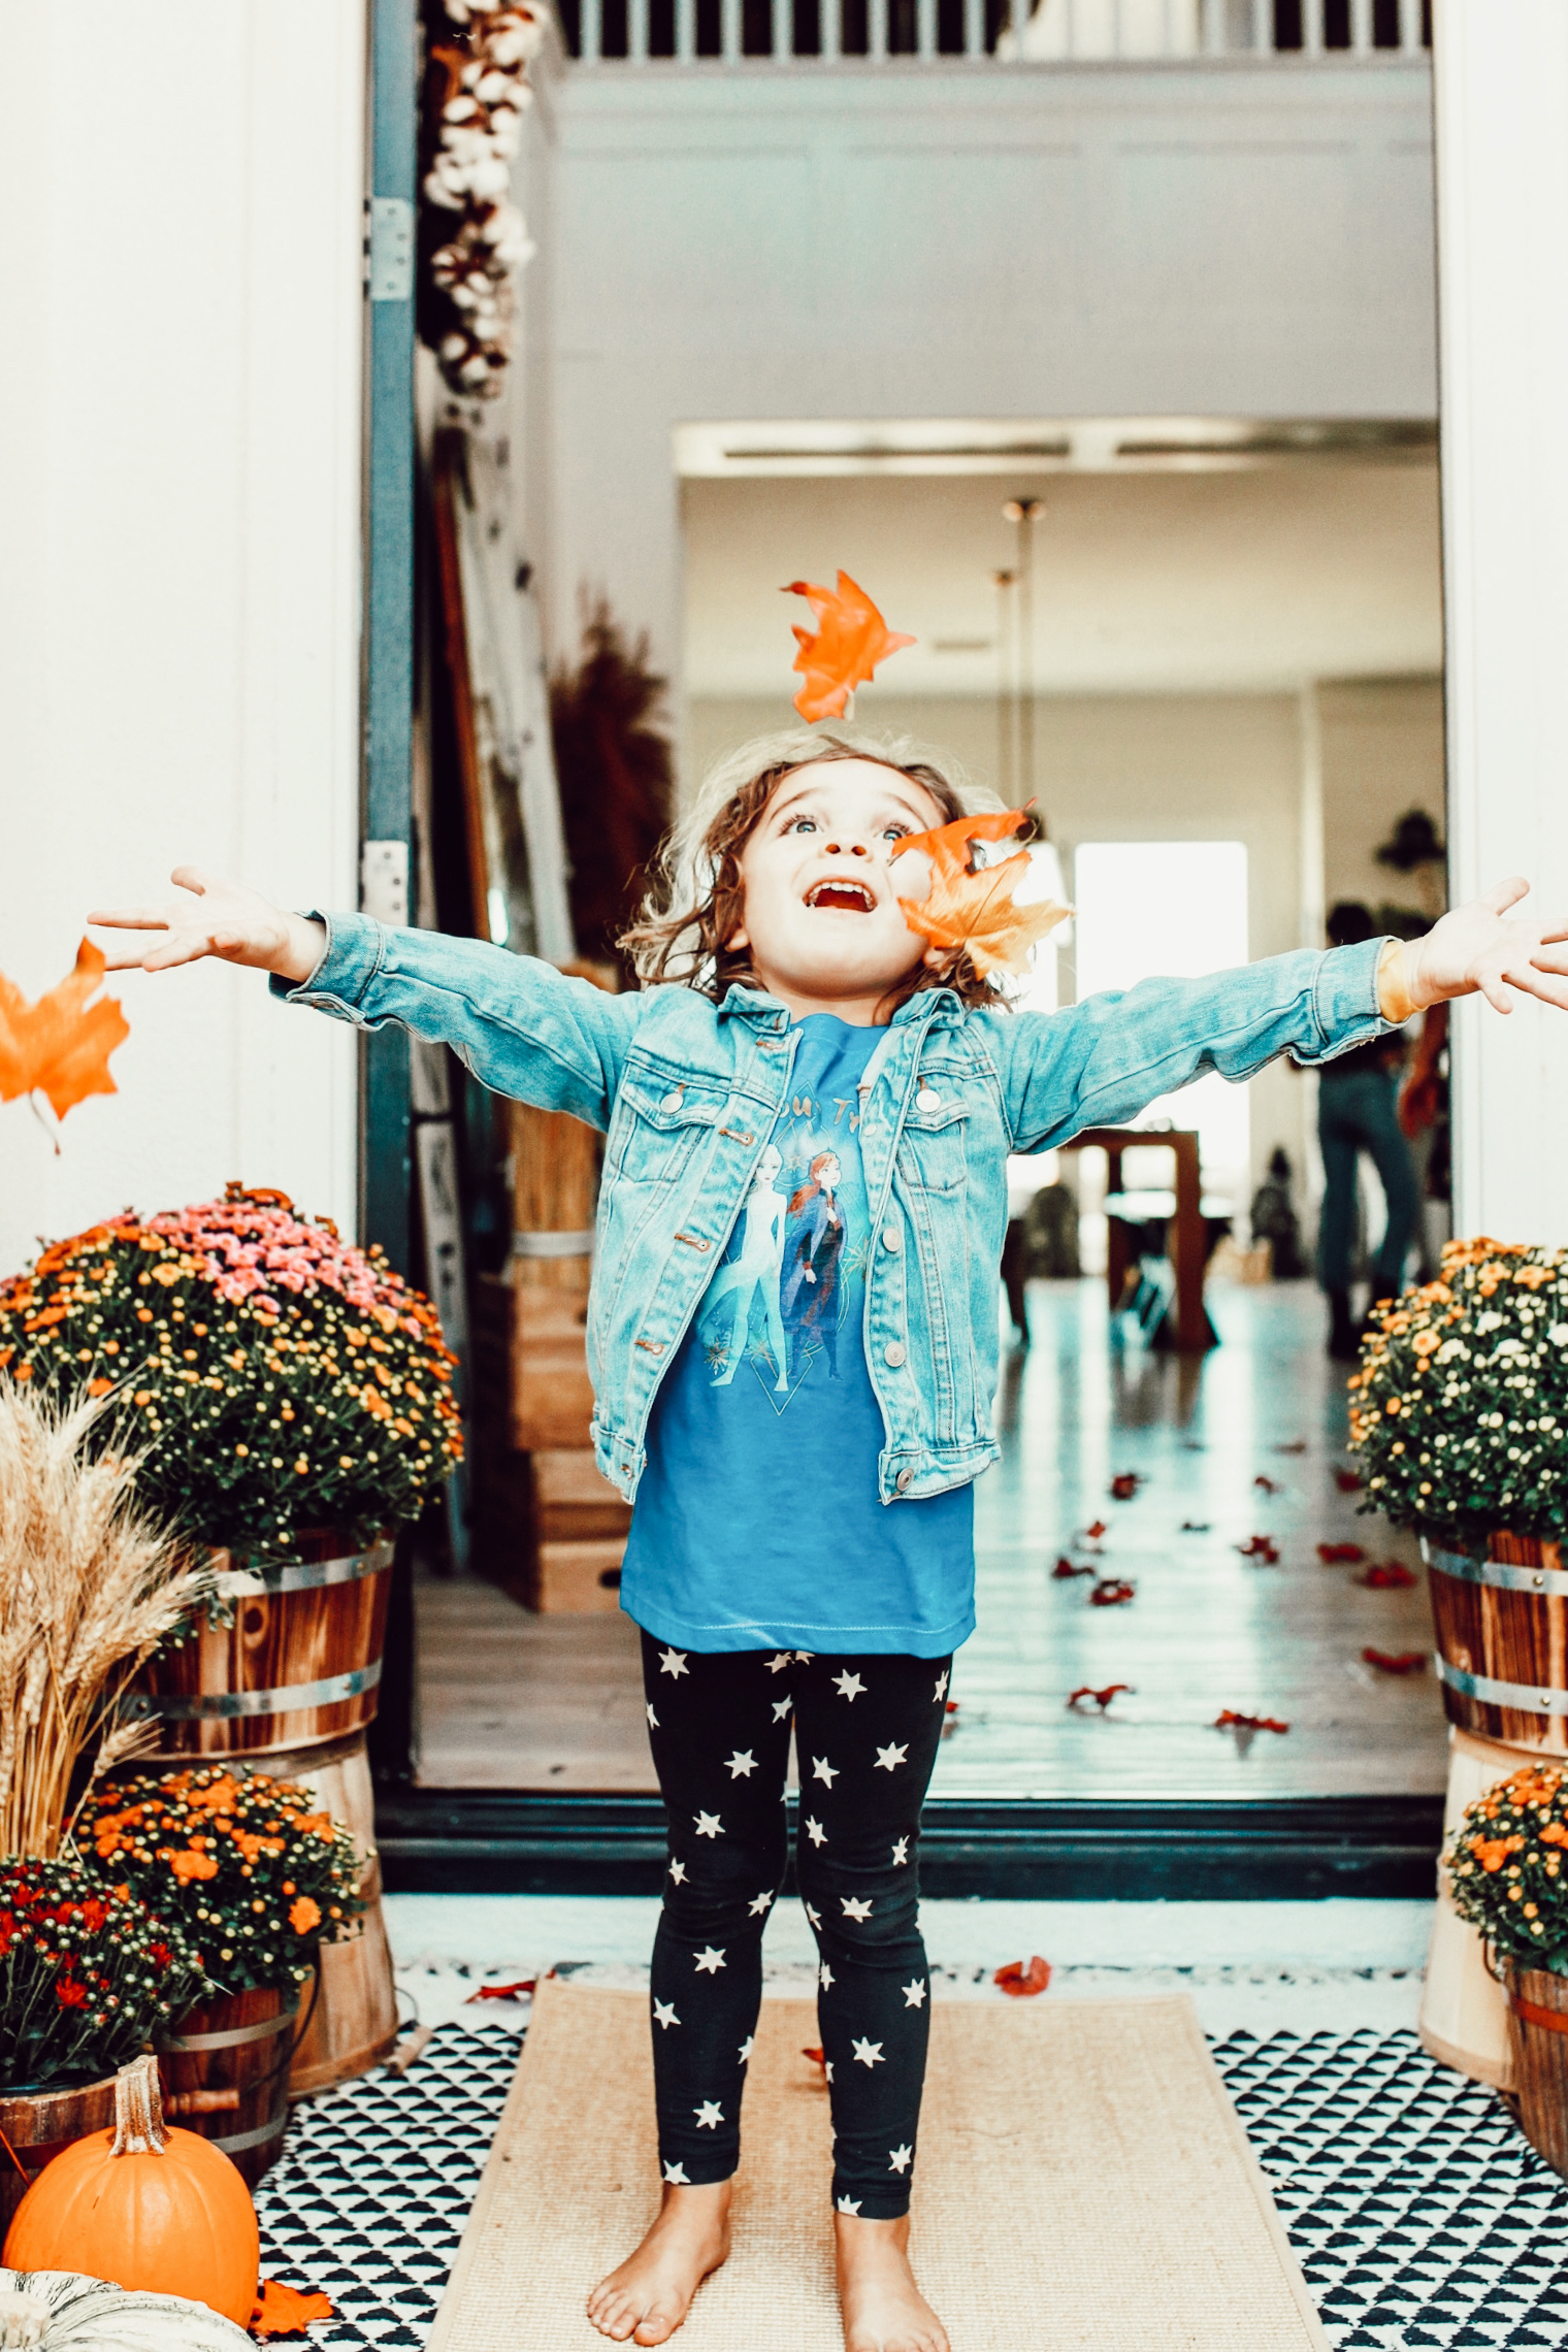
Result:
{"label": "glossy wooden floor inside the doorway, behind the child", "polygon": [[[1030,1291],[1004,1367],[1001,1463],[978,1489],[980,1628],[954,1670],[936,1795],[1267,1797],[1436,1792],[1434,1677],[1415,1545],[1356,1517],[1342,1374],[1309,1284],[1211,1287],[1222,1345],[1154,1355],[1098,1282]],[[1135,1482],[1117,1498],[1112,1482]],[[1103,1536],[1088,1541],[1100,1524]],[[1241,1545],[1269,1538],[1274,1562]],[[1413,1588],[1366,1588],[1401,1559]],[[1098,1576],[1058,1578],[1058,1557]],[[1095,1583],[1133,1597],[1093,1604]],[[654,1788],[637,1635],[614,1613],[534,1618],[480,1583],[418,1592],[421,1778],[433,1788]],[[1074,1689],[1126,1684],[1105,1715]],[[1218,1731],[1225,1710],[1286,1722]]]}

